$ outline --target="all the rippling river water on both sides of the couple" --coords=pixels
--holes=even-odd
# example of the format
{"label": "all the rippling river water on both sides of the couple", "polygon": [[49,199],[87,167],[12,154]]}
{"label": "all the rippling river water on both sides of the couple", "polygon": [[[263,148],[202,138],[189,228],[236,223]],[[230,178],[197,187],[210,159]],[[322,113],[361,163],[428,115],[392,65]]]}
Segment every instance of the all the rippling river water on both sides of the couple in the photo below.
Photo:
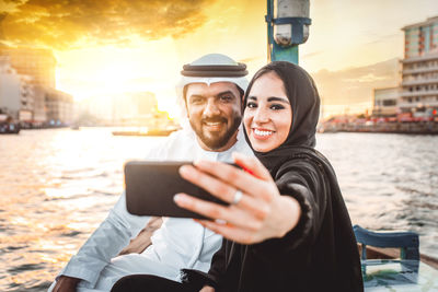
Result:
{"label": "all the rippling river water on both sides of the couple", "polygon": [[[0,136],[0,291],[45,291],[123,190],[123,164],[164,138],[110,128]],[[438,257],[438,136],[324,133],[351,221],[412,230]]]}

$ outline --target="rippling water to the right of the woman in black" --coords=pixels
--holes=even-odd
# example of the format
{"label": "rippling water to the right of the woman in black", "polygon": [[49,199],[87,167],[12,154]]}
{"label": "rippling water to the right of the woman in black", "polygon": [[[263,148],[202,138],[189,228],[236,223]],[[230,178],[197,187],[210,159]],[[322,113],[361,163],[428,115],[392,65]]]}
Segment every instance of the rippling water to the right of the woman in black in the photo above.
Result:
{"label": "rippling water to the right of the woman in black", "polygon": [[318,148],[333,163],[354,224],[412,230],[438,257],[438,136],[327,133]]}

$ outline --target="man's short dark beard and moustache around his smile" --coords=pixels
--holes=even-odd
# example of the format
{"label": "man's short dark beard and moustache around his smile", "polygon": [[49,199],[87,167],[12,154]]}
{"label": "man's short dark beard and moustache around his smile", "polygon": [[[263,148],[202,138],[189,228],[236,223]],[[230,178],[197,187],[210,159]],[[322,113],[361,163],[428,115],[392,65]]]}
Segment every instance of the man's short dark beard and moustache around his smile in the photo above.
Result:
{"label": "man's short dark beard and moustache around his smile", "polygon": [[224,133],[211,133],[210,132],[210,137],[208,137],[207,135],[204,135],[203,131],[203,125],[206,121],[223,121],[224,125],[227,125],[227,119],[222,118],[222,117],[217,117],[217,118],[203,118],[200,120],[200,124],[195,125],[195,122],[193,122],[189,119],[192,129],[196,132],[196,136],[200,139],[200,141],[203,141],[203,143],[208,147],[211,150],[217,150],[220,149],[222,147],[224,147],[228,141],[231,139],[231,137],[235,133],[235,131],[238,130],[240,122],[242,121],[242,117],[241,116],[237,116],[234,117],[234,119],[232,119],[230,127],[228,128],[228,130]]}

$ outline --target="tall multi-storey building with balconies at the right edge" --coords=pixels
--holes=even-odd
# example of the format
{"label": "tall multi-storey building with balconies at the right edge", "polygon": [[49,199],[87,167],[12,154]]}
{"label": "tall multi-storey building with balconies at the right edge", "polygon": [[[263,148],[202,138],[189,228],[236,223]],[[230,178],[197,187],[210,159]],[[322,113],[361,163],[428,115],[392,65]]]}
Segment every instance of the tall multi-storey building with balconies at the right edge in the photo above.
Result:
{"label": "tall multi-storey building with balconies at the right edge", "polygon": [[430,117],[438,109],[438,16],[402,28],[405,34],[399,110]]}

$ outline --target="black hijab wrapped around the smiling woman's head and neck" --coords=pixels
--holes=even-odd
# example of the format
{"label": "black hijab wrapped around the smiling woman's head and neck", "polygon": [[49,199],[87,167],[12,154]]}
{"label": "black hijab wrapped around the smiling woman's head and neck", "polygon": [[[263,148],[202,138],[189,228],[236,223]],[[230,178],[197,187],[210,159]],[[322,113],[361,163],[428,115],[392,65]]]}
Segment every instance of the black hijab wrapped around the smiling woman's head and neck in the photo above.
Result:
{"label": "black hijab wrapped around the smiling woman's head and neck", "polygon": [[[275,72],[281,79],[292,110],[292,125],[281,145],[269,152],[257,152],[253,149],[257,159],[273,173],[278,164],[297,151],[314,153],[309,150],[313,150],[316,142],[320,96],[312,78],[301,67],[286,61],[275,61],[264,66],[254,74],[244,96],[244,105],[254,82],[268,72]],[[246,131],[245,138],[251,145]]]}

